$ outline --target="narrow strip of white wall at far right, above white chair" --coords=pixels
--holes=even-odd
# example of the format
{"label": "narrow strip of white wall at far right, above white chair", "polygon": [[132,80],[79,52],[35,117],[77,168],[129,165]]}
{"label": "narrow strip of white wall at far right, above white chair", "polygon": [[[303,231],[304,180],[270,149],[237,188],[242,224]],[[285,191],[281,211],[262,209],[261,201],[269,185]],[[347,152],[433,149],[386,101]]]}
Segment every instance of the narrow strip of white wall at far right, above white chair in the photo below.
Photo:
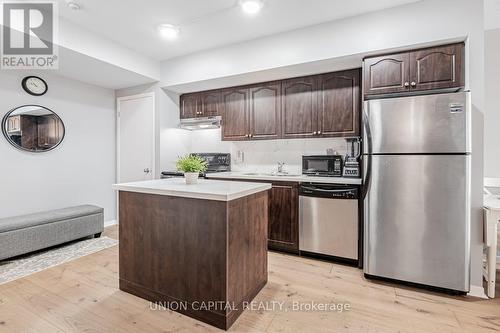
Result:
{"label": "narrow strip of white wall at far right, above white chair", "polygon": [[484,175],[500,178],[500,29],[485,32]]}

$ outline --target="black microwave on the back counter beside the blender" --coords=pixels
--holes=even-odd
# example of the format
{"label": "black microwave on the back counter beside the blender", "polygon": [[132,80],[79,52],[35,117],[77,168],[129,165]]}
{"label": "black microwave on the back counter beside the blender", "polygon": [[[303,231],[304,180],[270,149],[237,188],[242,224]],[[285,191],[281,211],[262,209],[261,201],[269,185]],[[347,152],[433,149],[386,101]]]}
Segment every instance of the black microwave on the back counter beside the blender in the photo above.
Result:
{"label": "black microwave on the back counter beside the blender", "polygon": [[302,174],[307,176],[342,177],[342,156],[302,156]]}

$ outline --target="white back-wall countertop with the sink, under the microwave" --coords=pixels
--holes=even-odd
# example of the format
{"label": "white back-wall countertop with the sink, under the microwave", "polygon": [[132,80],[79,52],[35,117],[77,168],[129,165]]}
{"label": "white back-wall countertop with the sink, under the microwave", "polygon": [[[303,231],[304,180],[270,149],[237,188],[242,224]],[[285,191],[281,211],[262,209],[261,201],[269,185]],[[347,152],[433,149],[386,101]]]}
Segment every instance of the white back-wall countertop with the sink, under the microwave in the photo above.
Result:
{"label": "white back-wall countertop with the sink, under the microwave", "polygon": [[206,174],[207,178],[248,179],[248,180],[270,180],[282,182],[301,183],[325,183],[325,184],[347,184],[361,185],[361,178],[347,177],[313,177],[305,175],[274,176],[266,174],[249,174],[245,172],[216,172]]}

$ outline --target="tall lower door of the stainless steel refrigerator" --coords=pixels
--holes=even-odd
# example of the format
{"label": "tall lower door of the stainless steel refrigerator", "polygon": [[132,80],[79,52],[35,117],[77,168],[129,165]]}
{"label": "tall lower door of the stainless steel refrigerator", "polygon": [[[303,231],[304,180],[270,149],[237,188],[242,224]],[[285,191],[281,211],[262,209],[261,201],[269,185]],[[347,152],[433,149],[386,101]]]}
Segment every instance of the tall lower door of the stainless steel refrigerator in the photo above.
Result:
{"label": "tall lower door of the stainless steel refrigerator", "polygon": [[369,158],[365,273],[467,292],[470,156]]}

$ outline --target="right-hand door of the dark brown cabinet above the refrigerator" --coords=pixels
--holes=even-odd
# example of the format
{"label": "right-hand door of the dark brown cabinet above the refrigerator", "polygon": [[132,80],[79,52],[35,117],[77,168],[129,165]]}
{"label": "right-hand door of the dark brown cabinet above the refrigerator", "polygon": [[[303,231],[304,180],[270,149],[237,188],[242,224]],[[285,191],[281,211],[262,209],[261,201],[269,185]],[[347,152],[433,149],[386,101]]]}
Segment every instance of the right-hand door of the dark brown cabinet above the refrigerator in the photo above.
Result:
{"label": "right-hand door of the dark brown cabinet above the refrigerator", "polygon": [[410,53],[412,90],[464,86],[464,44],[433,47]]}

